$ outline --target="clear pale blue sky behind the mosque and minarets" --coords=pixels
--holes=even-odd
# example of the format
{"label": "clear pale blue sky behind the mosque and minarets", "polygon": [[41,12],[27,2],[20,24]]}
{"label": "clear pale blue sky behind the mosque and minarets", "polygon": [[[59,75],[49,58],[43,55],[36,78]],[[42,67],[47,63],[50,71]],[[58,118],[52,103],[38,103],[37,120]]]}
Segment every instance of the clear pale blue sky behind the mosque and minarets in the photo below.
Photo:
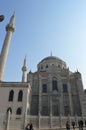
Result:
{"label": "clear pale blue sky behind the mosque and minarets", "polygon": [[70,71],[82,74],[86,89],[86,0],[1,0],[0,52],[5,26],[15,11],[15,32],[7,57],[4,81],[21,81],[24,57],[27,73],[51,52]]}

